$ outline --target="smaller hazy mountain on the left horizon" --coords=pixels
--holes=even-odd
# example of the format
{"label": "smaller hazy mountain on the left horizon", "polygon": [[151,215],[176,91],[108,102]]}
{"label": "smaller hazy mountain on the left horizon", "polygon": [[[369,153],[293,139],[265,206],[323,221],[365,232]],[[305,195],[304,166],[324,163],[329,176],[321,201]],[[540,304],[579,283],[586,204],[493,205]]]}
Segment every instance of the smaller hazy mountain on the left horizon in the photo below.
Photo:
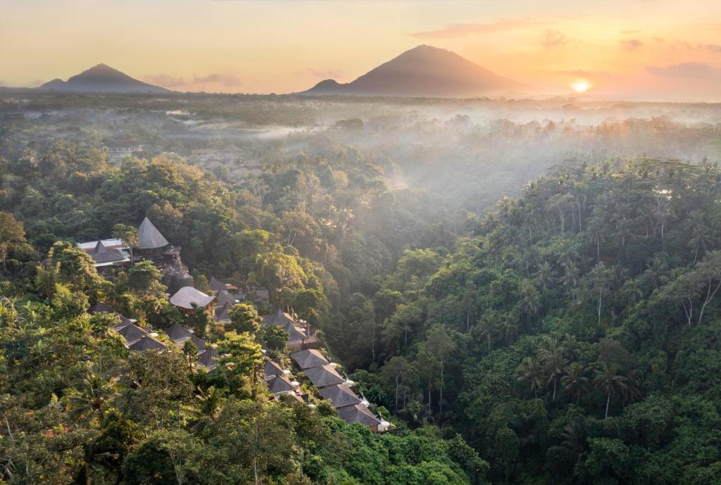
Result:
{"label": "smaller hazy mountain on the left horizon", "polygon": [[138,81],[128,74],[105,64],[98,64],[71,76],[67,81],[53,79],[38,87],[40,91],[50,92],[87,92],[87,93],[167,93],[168,89]]}

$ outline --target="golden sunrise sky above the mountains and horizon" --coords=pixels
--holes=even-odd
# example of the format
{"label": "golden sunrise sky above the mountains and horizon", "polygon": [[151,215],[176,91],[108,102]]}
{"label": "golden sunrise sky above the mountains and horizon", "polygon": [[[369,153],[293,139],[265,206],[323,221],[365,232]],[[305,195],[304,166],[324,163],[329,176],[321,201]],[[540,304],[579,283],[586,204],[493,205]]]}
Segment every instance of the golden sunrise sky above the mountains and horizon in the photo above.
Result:
{"label": "golden sunrise sky above the mountains and horizon", "polygon": [[106,63],[179,91],[297,92],[428,44],[548,94],[721,101],[719,0],[0,0],[0,10],[5,86]]}

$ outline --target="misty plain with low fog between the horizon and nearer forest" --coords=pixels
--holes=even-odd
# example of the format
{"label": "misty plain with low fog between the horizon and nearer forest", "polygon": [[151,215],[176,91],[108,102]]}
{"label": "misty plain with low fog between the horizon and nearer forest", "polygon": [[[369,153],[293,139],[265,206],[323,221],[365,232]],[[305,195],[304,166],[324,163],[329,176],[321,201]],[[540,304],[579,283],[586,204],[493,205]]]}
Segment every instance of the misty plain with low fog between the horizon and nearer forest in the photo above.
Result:
{"label": "misty plain with low fog between the horizon and nearer forest", "polygon": [[8,130],[16,144],[103,146],[131,138],[143,144],[143,156],[173,153],[226,182],[252,179],[298,153],[329,159],[353,150],[356,163],[381,166],[398,189],[441,193],[445,203],[472,211],[559,164],[721,158],[720,104],[580,97],[6,97],[0,134]]}

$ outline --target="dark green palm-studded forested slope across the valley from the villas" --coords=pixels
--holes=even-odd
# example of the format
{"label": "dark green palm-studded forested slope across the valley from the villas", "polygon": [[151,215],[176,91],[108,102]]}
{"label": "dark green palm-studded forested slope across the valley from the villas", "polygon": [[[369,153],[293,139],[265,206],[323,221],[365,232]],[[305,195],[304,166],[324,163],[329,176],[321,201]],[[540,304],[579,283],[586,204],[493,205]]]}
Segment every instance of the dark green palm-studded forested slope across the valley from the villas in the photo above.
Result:
{"label": "dark green palm-studded forested slope across the valley from the villas", "polygon": [[548,174],[456,252],[404,254],[335,348],[399,415],[464,432],[493,483],[717,483],[720,190],[677,161]]}

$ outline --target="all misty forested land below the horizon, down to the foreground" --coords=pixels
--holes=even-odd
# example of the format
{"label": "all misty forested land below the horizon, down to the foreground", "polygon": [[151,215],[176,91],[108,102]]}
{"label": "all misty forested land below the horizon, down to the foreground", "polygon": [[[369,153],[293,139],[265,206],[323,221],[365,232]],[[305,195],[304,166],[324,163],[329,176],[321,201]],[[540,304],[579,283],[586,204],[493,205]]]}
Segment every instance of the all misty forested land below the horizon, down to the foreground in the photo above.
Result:
{"label": "all misty forested land below the horizon, down to the foreground", "polygon": [[720,104],[0,92],[0,484],[717,484],[720,161]]}

